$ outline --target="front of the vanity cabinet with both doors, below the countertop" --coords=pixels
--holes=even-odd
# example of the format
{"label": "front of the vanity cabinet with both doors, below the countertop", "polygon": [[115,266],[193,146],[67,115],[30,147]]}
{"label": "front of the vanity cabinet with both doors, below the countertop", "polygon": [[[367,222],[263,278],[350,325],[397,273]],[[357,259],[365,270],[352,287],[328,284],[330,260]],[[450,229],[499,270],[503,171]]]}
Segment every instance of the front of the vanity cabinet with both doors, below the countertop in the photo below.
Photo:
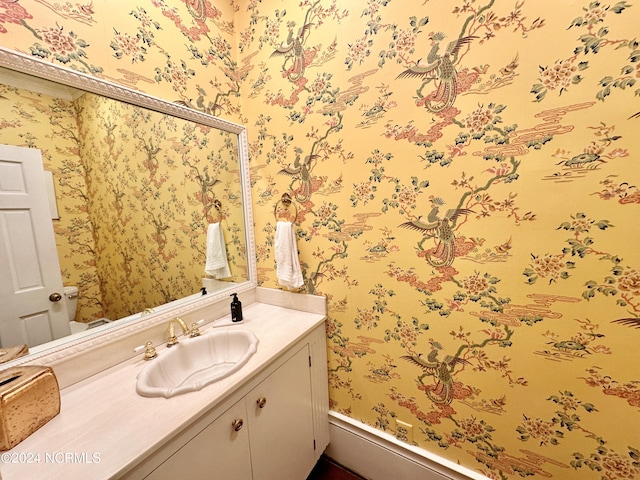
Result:
{"label": "front of the vanity cabinet with both doors, below the countertop", "polygon": [[304,345],[145,478],[304,480],[320,453]]}

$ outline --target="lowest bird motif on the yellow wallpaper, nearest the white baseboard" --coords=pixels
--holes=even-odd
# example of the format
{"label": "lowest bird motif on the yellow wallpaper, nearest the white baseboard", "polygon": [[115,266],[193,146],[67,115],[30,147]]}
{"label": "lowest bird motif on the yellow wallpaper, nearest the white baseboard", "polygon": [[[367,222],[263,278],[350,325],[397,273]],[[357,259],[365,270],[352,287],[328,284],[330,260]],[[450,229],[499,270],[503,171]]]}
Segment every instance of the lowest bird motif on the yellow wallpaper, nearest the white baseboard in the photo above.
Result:
{"label": "lowest bird motif on the yellow wallpaper, nearest the white baseboard", "polygon": [[434,348],[427,354],[426,360],[422,358],[421,354],[403,355],[400,358],[424,370],[424,375],[418,378],[419,382],[422,382],[422,379],[426,376],[434,378],[434,386],[426,390],[427,397],[429,397],[433,403],[449,405],[453,401],[454,394],[453,370],[456,365],[469,364],[469,362],[464,358],[457,356],[452,357],[451,355],[444,357],[444,360],[438,360],[438,353],[441,348],[438,344],[434,343]]}

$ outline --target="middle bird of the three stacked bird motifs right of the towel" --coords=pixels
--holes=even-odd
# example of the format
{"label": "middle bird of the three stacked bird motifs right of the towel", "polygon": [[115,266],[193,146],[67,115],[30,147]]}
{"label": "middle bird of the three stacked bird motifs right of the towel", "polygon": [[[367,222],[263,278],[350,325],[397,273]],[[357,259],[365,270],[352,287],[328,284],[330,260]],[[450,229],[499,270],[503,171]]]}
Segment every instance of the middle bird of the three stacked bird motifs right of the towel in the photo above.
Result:
{"label": "middle bird of the three stacked bird motifs right of the towel", "polygon": [[[456,238],[453,234],[453,226],[460,215],[468,215],[473,213],[473,210],[468,208],[449,209],[444,217],[440,218],[440,206],[444,205],[444,201],[441,198],[434,198],[432,205],[426,219],[418,217],[416,220],[401,223],[400,227],[422,232],[423,241],[435,238],[437,241],[435,251],[428,252],[425,258],[432,267],[449,267],[456,256]],[[420,243],[422,244],[422,242]]]}

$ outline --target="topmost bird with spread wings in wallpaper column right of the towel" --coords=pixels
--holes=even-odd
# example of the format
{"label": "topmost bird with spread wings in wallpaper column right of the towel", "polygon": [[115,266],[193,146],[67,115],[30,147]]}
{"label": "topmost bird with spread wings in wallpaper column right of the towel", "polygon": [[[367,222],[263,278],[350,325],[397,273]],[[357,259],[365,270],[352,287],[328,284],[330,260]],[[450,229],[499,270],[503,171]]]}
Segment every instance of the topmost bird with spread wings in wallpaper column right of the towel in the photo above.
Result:
{"label": "topmost bird with spread wings in wallpaper column right of the towel", "polygon": [[433,35],[433,46],[427,55],[427,61],[418,60],[416,65],[406,69],[396,78],[422,78],[422,86],[418,89],[418,93],[422,91],[424,86],[435,80],[437,82],[436,91],[429,94],[425,100],[425,107],[433,113],[441,112],[453,105],[457,96],[457,76],[458,72],[455,63],[458,59],[460,49],[469,44],[474,36],[461,37],[449,43],[445,52],[440,55],[440,42],[444,40],[444,34],[437,32]]}

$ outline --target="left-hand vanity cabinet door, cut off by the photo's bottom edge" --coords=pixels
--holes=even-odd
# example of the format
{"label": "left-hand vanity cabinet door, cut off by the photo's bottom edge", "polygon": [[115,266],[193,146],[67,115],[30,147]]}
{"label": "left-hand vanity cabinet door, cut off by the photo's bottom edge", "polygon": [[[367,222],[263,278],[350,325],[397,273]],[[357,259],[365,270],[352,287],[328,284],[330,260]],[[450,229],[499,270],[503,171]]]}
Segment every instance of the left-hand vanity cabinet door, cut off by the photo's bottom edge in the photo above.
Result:
{"label": "left-hand vanity cabinet door, cut off by the photo's bottom edge", "polygon": [[[234,421],[241,420],[238,428]],[[156,468],[147,480],[251,480],[249,428],[241,400]]]}

